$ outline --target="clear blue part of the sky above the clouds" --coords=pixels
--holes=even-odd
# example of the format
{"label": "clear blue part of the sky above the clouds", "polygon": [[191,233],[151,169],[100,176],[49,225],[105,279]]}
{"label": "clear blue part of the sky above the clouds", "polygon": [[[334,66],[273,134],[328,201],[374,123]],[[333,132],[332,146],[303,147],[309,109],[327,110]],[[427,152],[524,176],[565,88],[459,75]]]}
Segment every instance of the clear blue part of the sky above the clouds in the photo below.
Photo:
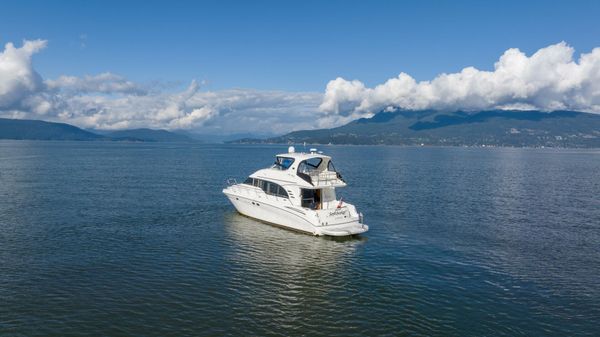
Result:
{"label": "clear blue part of the sky above the clouds", "polygon": [[[44,77],[110,71],[136,81],[321,91],[490,69],[506,49],[600,46],[599,1],[13,1],[0,42],[46,39]],[[82,48],[85,43],[85,48]]]}

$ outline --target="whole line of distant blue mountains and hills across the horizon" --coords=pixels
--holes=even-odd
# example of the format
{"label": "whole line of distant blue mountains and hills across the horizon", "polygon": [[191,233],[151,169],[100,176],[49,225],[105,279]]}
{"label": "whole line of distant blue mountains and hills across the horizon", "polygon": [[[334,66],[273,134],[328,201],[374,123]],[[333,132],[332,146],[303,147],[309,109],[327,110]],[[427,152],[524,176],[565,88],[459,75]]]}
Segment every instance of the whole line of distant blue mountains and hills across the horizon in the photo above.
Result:
{"label": "whole line of distant blue mountains and hills across the horizon", "polygon": [[[0,139],[193,142],[199,137],[191,133],[153,129],[83,130],[65,123],[0,118]],[[360,118],[331,129],[294,131],[267,138],[247,135],[230,140],[231,136],[228,137],[211,138],[209,141],[600,148],[600,115],[576,111],[440,112],[397,109],[381,111],[370,118]]]}

